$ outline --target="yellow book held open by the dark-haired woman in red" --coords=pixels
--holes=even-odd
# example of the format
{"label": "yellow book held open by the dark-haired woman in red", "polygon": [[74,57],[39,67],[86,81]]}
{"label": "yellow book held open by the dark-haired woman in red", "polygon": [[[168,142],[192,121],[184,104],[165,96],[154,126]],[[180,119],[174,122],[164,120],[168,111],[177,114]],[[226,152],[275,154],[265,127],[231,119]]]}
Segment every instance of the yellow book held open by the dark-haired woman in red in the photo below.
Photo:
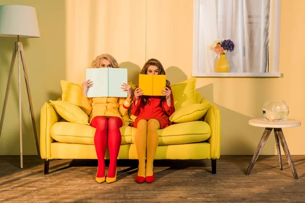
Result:
{"label": "yellow book held open by the dark-haired woman in red", "polygon": [[143,90],[143,95],[148,96],[164,96],[161,93],[165,89],[165,75],[145,75],[139,74],[139,88]]}

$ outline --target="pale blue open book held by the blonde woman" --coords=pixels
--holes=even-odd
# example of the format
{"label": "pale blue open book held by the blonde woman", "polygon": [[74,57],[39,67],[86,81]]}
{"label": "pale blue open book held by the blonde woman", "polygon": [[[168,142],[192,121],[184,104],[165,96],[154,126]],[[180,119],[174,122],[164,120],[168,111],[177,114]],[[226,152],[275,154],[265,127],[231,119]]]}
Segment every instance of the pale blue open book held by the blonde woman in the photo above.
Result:
{"label": "pale blue open book held by the blonde woman", "polygon": [[127,97],[127,92],[121,89],[121,85],[127,83],[127,69],[86,69],[86,80],[93,81],[93,87],[88,87],[87,97]]}

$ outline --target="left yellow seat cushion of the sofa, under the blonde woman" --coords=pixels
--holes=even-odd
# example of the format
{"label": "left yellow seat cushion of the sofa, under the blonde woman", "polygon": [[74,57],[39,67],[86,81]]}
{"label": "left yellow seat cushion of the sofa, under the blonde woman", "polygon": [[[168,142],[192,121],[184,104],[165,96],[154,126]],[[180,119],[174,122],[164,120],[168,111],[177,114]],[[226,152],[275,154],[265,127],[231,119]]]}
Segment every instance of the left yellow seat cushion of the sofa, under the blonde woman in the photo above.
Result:
{"label": "left yellow seat cushion of the sofa, under the blonde woman", "polygon": [[[121,145],[132,143],[131,126],[119,128]],[[94,145],[96,128],[80,123],[57,122],[51,128],[51,137],[57,142]]]}

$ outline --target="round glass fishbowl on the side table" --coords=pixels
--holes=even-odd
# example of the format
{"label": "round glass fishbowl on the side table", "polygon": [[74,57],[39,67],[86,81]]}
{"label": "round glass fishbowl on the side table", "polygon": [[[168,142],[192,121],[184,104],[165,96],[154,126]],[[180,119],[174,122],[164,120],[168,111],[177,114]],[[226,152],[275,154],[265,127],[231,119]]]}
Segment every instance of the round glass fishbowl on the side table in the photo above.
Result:
{"label": "round glass fishbowl on the side table", "polygon": [[283,121],[289,114],[284,100],[268,100],[263,106],[263,115],[268,121]]}

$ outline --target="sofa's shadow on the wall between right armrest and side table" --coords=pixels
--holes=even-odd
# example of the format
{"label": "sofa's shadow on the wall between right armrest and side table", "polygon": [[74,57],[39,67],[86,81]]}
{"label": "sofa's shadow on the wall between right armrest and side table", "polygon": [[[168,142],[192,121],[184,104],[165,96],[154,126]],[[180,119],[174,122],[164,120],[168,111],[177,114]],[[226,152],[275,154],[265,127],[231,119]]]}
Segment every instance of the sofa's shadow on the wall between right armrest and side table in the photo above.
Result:
{"label": "sofa's shadow on the wall between right armrest and side table", "polygon": [[[221,113],[221,149],[222,155],[253,155],[257,145],[261,139],[263,128],[254,127],[248,124],[252,117],[240,114],[232,111],[228,108],[215,104],[213,94],[213,84],[196,89],[202,97],[216,105]],[[257,117],[261,117],[260,112],[257,113]],[[275,148],[275,139],[273,138],[273,132],[265,144],[264,148]],[[271,140],[271,141],[270,141]],[[238,150],[234,150],[238,148]],[[236,153],[238,151],[238,153]],[[224,153],[225,152],[225,153]],[[234,152],[234,154],[232,154]]]}

